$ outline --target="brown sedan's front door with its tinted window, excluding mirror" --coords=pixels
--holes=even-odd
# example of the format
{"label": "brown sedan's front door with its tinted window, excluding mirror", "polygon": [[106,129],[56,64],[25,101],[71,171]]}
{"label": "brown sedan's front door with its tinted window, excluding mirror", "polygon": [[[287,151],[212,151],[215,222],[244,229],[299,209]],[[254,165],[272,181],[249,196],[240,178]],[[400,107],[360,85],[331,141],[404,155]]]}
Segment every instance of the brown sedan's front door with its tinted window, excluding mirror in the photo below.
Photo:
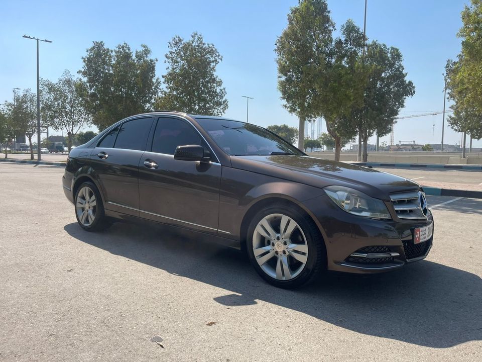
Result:
{"label": "brown sedan's front door with its tinted window, excluding mirror", "polygon": [[189,122],[161,117],[157,122],[152,148],[139,163],[141,217],[217,232],[219,221],[219,185],[221,164],[180,161],[174,151],[181,145],[209,146]]}

